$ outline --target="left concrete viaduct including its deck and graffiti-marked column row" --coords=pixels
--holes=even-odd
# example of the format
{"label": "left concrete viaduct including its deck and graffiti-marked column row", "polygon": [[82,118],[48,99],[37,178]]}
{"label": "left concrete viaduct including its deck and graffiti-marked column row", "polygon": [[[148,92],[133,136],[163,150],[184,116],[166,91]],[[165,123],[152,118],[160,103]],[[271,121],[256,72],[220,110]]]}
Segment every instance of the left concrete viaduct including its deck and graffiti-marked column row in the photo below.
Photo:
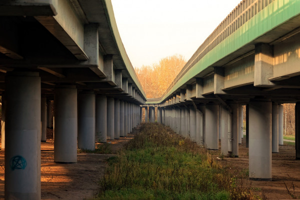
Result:
{"label": "left concrete viaduct including its deck and graffiti-marked column row", "polygon": [[63,163],[126,136],[146,100],[110,0],[1,0],[0,93],[5,199],[40,199],[49,100]]}

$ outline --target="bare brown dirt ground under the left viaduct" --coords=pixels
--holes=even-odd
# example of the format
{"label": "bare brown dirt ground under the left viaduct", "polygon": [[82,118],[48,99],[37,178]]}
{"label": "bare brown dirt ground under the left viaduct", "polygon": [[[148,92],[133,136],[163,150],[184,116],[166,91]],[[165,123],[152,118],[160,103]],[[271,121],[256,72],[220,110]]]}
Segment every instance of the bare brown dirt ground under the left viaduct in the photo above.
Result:
{"label": "bare brown dirt ground under the left viaduct", "polygon": [[[133,132],[134,133],[134,132]],[[111,141],[112,153],[133,134]],[[105,161],[114,154],[78,153],[77,163],[54,162],[53,139],[41,142],[41,199],[84,199],[99,191]],[[0,199],[4,199],[4,151],[0,150]]]}

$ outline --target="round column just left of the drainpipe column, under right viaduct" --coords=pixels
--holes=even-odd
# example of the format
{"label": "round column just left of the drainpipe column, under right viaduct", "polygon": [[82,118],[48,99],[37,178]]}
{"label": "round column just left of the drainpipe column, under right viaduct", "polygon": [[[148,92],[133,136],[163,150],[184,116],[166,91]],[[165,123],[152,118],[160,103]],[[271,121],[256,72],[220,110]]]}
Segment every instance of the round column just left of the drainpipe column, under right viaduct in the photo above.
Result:
{"label": "round column just left of the drainpipe column, under right viaduct", "polygon": [[205,144],[209,149],[218,149],[218,105],[206,104]]}

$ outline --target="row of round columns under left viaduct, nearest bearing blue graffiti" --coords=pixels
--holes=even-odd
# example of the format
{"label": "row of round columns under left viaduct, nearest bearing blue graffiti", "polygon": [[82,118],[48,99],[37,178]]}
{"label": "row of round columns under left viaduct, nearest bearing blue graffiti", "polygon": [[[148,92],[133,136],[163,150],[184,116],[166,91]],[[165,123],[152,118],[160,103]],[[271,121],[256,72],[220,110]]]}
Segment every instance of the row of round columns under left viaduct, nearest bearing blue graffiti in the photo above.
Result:
{"label": "row of round columns under left viaduct, nearest bearing blue graffiti", "polygon": [[[46,97],[38,72],[8,72],[2,96],[5,199],[40,199],[40,142],[46,140]],[[48,106],[49,107],[49,106]],[[49,112],[49,110],[48,110]],[[140,106],[74,85],[54,89],[54,161],[76,162],[77,147],[127,136],[140,123]]]}

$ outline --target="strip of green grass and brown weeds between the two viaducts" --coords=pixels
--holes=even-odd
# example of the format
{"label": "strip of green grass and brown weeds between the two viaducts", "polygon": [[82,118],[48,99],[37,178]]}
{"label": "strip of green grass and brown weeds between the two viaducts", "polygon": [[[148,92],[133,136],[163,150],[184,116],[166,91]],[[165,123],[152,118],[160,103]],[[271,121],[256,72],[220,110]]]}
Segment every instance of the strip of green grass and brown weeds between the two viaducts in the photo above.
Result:
{"label": "strip of green grass and brown weeds between the two viaducts", "polygon": [[158,123],[144,123],[117,156],[107,159],[94,199],[255,199],[241,175]]}

